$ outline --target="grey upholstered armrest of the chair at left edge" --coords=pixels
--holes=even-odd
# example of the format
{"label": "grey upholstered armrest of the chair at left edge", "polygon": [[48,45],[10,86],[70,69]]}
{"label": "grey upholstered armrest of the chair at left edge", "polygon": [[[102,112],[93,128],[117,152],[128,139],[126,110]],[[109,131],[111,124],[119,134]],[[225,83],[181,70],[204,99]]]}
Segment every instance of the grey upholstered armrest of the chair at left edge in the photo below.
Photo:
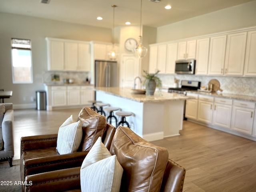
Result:
{"label": "grey upholstered armrest of the chair at left edge", "polygon": [[14,155],[13,119],[13,110],[7,110],[4,114],[2,122],[2,137],[4,141],[4,151],[12,151],[12,156]]}

